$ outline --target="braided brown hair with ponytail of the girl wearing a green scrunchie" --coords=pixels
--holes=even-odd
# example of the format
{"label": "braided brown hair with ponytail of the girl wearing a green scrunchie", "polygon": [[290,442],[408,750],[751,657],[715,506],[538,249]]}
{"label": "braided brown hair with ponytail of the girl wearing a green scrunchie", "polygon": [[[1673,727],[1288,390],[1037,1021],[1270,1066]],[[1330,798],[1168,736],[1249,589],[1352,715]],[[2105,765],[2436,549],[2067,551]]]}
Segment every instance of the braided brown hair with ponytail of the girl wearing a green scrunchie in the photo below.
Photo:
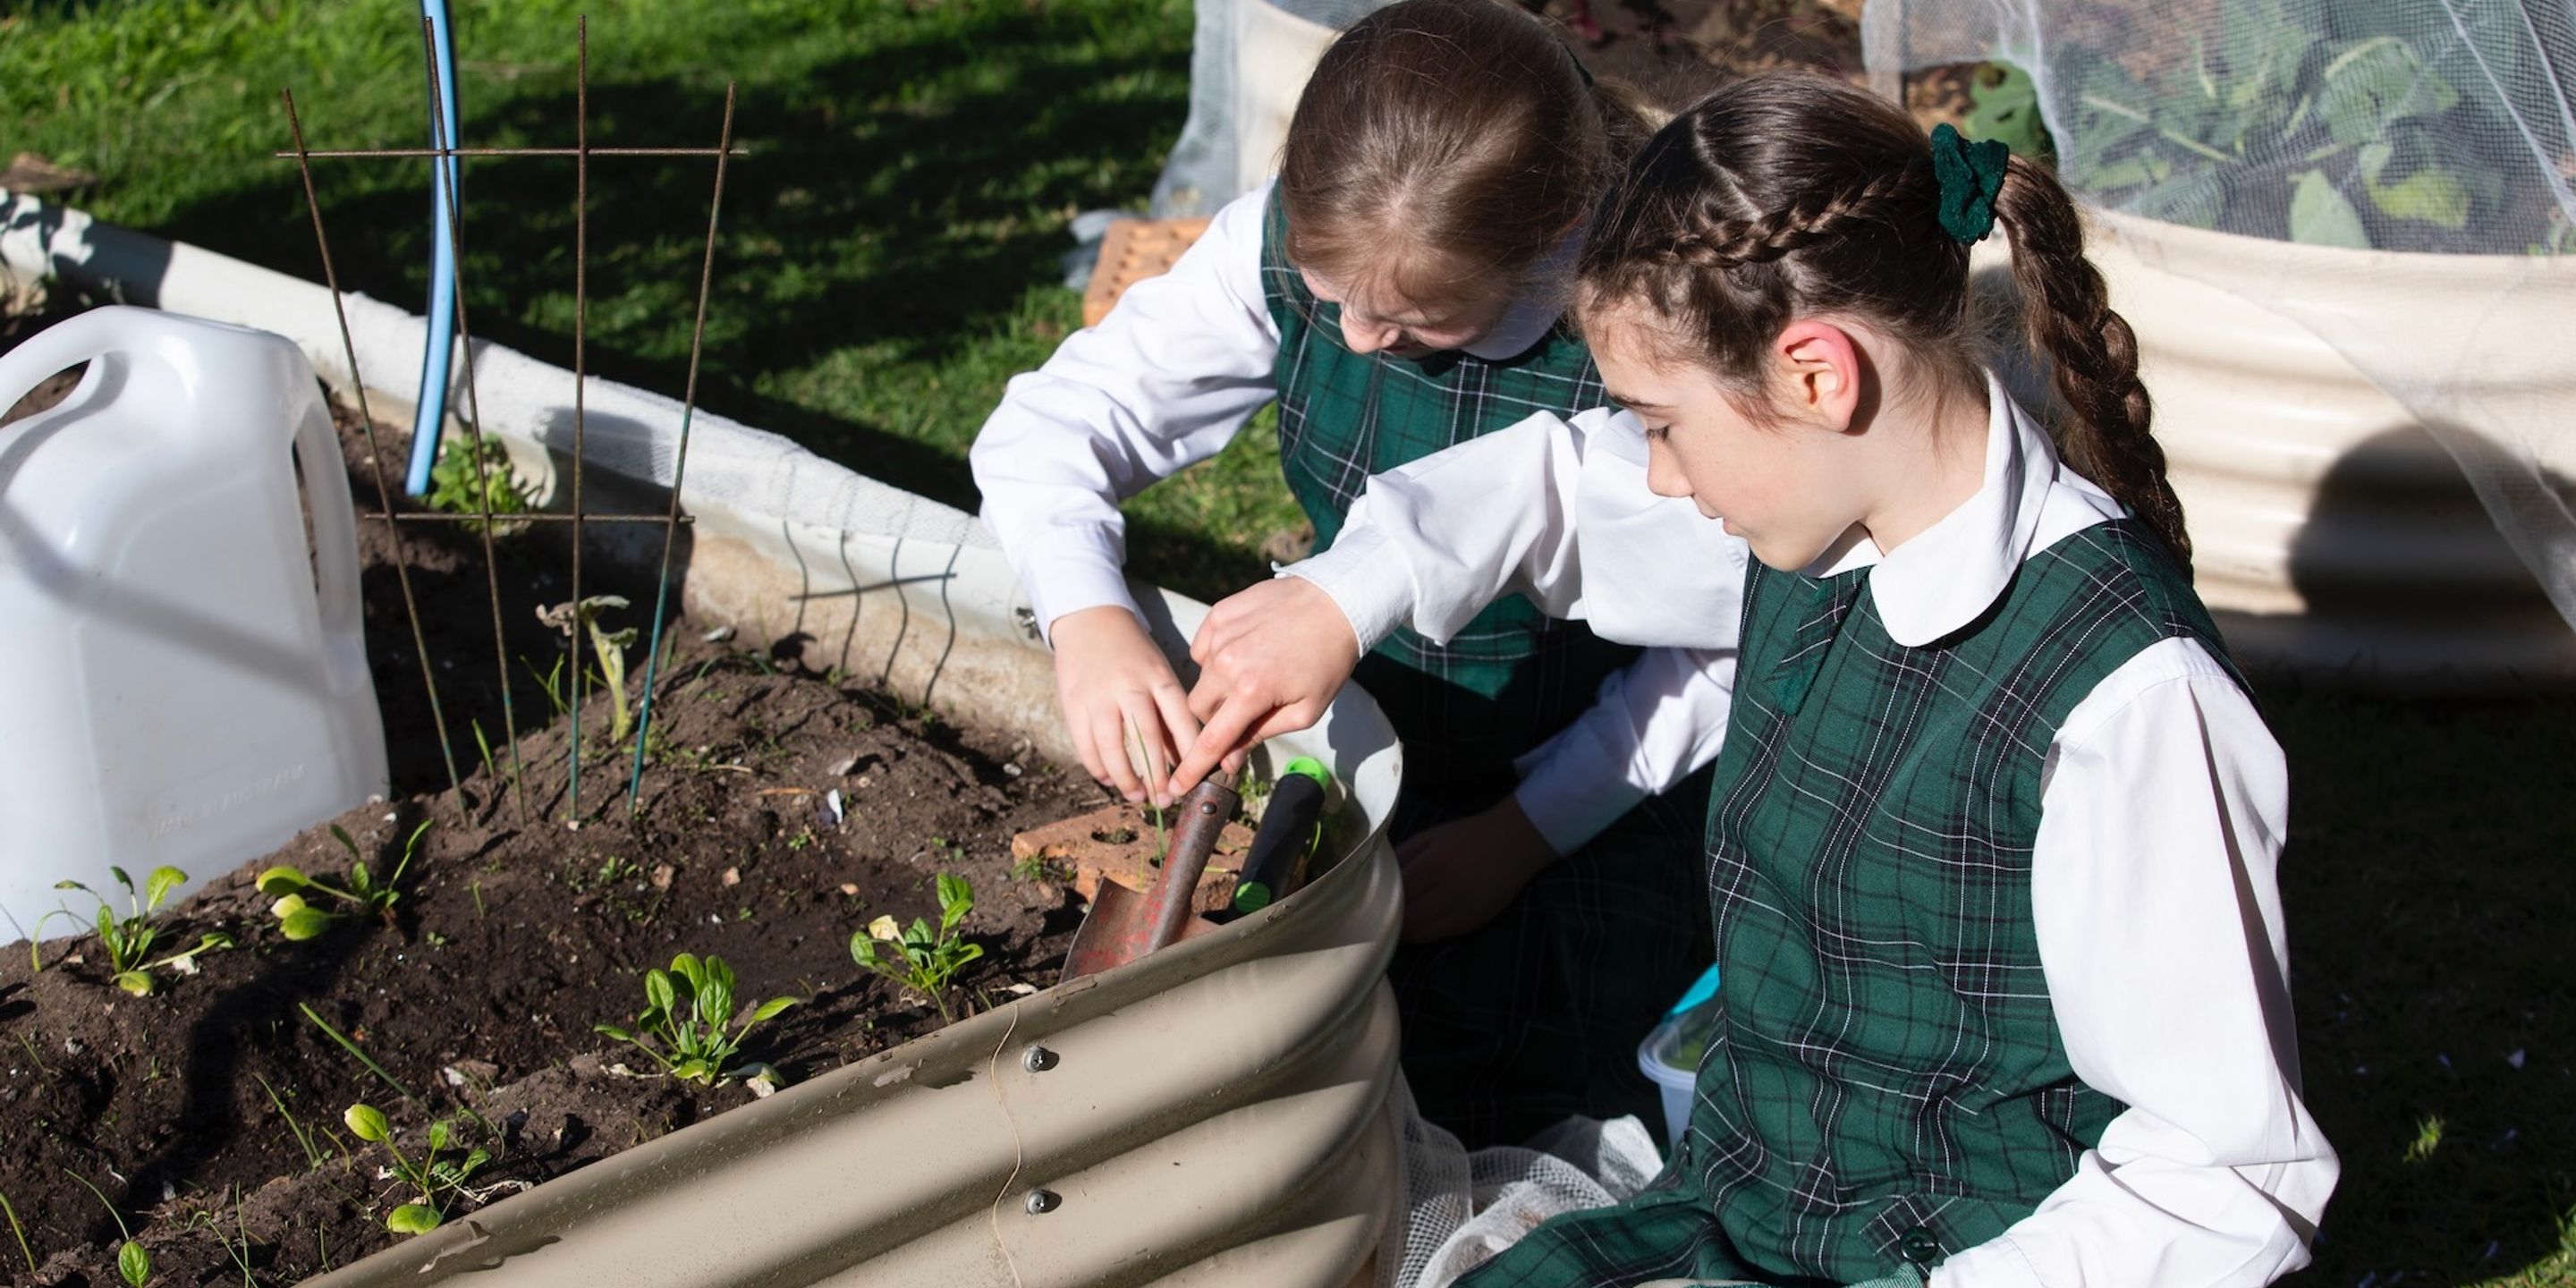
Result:
{"label": "braided brown hair with ponytail of the girl wearing a green scrunchie", "polygon": [[[2148,433],[2138,340],[2084,260],[2084,224],[2048,170],[2014,157],[1996,196],[2022,327],[2071,412],[2058,448],[2184,564],[2182,502]],[[1638,149],[1577,263],[1582,312],[1643,307],[1664,361],[1710,371],[1762,417],[1765,353],[1798,317],[1852,317],[1932,379],[1976,386],[1968,247],[1940,227],[1924,131],[1821,75],[1736,80]]]}

